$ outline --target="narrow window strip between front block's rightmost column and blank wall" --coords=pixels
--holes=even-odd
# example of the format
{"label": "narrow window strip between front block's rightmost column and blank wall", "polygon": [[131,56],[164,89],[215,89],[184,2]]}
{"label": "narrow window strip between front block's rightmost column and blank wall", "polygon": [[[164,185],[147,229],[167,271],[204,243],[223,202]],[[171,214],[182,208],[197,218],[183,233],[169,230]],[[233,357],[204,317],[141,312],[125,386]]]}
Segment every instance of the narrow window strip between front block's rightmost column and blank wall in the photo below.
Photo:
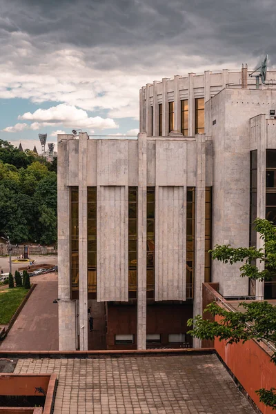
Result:
{"label": "narrow window strip between front block's rightmost column and blank wall", "polygon": [[212,248],[212,187],[206,187],[205,192],[205,282],[211,282],[211,254]]}

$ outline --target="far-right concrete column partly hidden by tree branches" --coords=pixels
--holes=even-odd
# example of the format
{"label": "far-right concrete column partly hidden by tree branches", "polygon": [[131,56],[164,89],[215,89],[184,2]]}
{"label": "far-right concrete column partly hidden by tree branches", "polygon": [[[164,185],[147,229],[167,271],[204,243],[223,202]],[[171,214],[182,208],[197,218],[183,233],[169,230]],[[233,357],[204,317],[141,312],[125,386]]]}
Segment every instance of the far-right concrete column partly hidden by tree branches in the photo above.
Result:
{"label": "far-right concrete column partly hidden by tree branches", "polygon": [[[260,134],[257,135],[257,217],[266,218],[266,146],[267,129],[266,115],[259,116]],[[257,248],[264,247],[264,240],[257,233]],[[259,270],[264,270],[264,262],[257,259],[256,263]],[[256,281],[256,300],[264,299],[264,282]]]}

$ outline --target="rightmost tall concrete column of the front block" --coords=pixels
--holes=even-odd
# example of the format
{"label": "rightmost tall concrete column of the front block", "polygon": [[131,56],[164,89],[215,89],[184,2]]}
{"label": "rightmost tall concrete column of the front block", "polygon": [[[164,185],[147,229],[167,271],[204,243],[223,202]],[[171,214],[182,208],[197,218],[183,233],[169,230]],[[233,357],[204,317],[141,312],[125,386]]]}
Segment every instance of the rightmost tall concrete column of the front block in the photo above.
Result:
{"label": "rightmost tall concrete column of the front block", "polygon": [[[195,282],[194,317],[202,315],[202,284],[205,266],[205,186],[206,155],[205,135],[196,135],[197,139],[197,181],[195,188]],[[193,347],[200,348],[201,340],[194,338]]]}

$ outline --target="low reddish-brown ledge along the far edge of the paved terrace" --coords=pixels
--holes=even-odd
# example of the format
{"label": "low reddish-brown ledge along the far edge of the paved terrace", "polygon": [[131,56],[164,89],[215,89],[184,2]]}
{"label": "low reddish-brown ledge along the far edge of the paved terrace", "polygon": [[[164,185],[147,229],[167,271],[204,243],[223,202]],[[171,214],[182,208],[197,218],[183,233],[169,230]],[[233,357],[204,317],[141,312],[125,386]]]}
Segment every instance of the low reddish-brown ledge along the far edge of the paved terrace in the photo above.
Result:
{"label": "low reddish-brown ledge along the far edge of the paved terrace", "polygon": [[164,357],[179,355],[210,355],[216,353],[215,348],[184,348],[184,349],[147,349],[118,351],[3,351],[0,358],[8,359],[66,359],[66,358],[124,358],[124,357]]}

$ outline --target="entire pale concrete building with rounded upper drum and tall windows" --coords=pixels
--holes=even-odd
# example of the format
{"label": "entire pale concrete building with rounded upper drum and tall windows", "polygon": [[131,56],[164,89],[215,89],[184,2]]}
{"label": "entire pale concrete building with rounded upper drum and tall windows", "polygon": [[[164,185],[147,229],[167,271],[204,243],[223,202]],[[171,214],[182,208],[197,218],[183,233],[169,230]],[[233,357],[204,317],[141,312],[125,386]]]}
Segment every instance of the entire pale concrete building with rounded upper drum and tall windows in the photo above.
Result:
{"label": "entire pale concrete building with rounded upper drum and tall windows", "polygon": [[208,253],[262,246],[253,220],[276,224],[273,79],[155,81],[140,90],[138,137],[58,136],[60,350],[200,346],[186,322],[204,282],[276,298],[276,281],[248,284]]}

